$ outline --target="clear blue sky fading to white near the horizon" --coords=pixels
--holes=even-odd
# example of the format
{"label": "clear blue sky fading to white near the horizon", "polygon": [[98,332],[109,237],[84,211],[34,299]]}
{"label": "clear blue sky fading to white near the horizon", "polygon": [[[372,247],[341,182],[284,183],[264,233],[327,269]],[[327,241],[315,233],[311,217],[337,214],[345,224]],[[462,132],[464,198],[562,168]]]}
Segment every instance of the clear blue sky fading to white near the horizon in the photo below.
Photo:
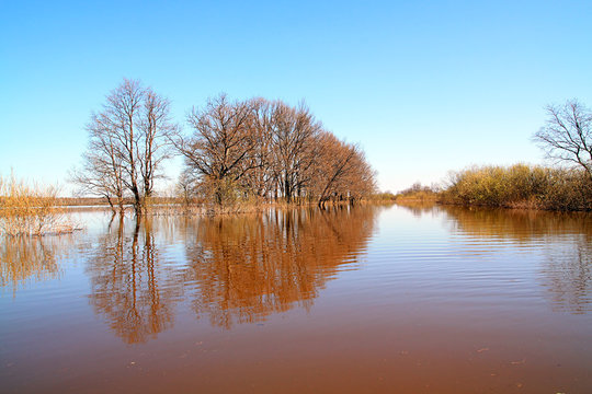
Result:
{"label": "clear blue sky fading to white near the horizon", "polygon": [[[0,2],[0,173],[65,185],[124,77],[192,105],[305,100],[383,189],[542,163],[544,106],[592,106],[592,1]],[[179,162],[168,172],[177,174]]]}

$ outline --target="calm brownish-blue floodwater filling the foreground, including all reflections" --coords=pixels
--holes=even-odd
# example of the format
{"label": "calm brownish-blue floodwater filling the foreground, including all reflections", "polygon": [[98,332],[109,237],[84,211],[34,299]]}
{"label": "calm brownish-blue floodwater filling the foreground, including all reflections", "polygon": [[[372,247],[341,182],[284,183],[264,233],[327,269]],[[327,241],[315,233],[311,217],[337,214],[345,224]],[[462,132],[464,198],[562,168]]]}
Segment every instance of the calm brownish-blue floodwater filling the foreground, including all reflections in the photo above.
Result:
{"label": "calm brownish-blue floodwater filling the foreground, including all reflections", "polygon": [[592,217],[448,207],[0,240],[2,393],[590,393]]}

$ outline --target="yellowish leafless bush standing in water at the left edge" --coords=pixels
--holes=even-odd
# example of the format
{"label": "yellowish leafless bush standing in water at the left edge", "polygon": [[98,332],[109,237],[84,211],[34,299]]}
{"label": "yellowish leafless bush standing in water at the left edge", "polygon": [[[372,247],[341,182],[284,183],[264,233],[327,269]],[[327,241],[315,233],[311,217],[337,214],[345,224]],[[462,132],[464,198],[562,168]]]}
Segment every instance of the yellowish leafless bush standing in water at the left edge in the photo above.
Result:
{"label": "yellowish leafless bush standing in water at the left edge", "polygon": [[57,206],[55,186],[29,185],[0,176],[0,233],[7,235],[43,235],[71,232],[72,225]]}

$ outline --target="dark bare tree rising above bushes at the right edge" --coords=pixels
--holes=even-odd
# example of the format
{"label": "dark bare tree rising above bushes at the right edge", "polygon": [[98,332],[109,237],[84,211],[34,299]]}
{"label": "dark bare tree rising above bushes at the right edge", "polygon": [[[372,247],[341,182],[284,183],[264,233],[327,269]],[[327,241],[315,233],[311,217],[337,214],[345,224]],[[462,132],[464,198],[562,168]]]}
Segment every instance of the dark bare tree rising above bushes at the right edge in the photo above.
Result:
{"label": "dark bare tree rising above bushes at the right edge", "polygon": [[547,106],[547,115],[534,140],[548,158],[581,166],[592,178],[592,112],[571,100]]}

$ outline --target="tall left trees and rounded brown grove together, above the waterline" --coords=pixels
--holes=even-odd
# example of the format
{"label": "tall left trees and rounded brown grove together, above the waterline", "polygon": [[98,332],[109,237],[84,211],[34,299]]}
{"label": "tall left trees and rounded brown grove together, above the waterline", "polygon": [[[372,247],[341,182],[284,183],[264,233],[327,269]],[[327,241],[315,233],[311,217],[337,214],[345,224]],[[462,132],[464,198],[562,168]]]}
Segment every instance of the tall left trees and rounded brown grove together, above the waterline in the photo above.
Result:
{"label": "tall left trees and rounded brown grove together, above the waterline", "polygon": [[141,215],[153,195],[162,162],[184,158],[178,189],[186,201],[217,206],[239,200],[353,204],[376,189],[364,151],[326,130],[304,104],[225,94],[194,107],[184,134],[170,102],[124,80],[87,125],[89,148],[71,179],[82,194],[124,210],[133,197]]}

